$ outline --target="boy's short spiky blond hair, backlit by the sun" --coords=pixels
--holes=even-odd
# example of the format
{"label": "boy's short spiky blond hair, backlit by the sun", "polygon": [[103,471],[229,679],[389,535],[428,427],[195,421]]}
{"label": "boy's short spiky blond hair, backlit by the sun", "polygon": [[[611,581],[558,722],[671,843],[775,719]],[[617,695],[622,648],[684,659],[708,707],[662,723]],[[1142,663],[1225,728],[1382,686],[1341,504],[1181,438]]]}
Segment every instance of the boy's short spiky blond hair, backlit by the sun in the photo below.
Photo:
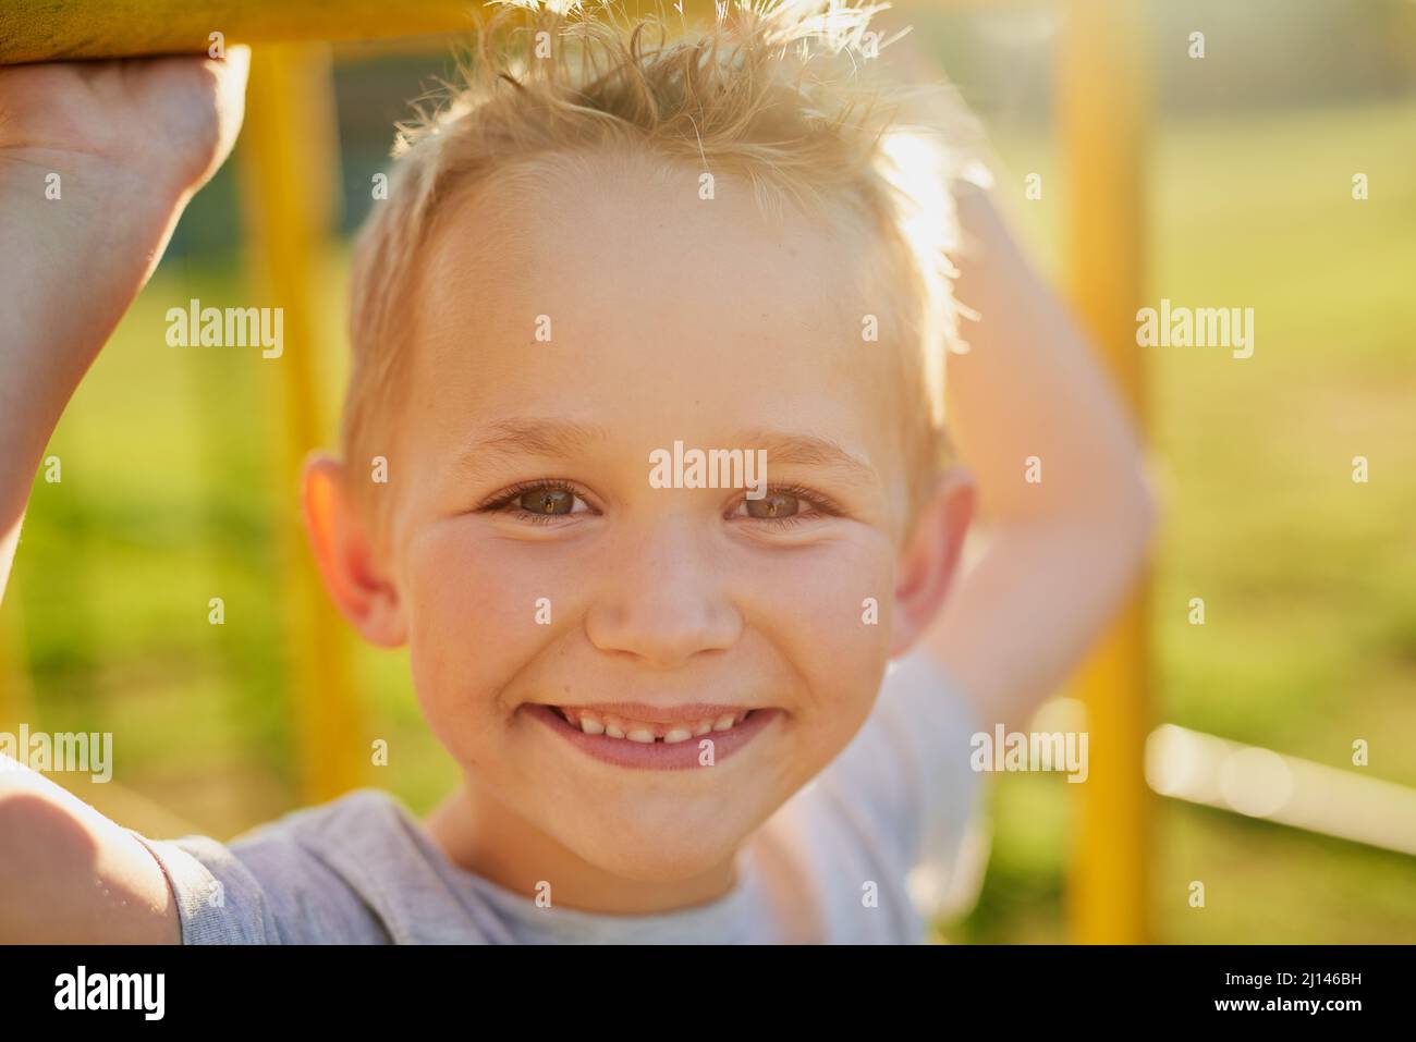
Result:
{"label": "boy's short spiky blond hair, backlit by the sun", "polygon": [[[453,193],[537,159],[619,146],[743,177],[763,212],[787,201],[813,212],[835,204],[868,222],[891,258],[892,317],[913,348],[905,361],[913,415],[901,420],[925,437],[912,439],[912,463],[919,481],[937,473],[949,453],[944,354],[966,350],[964,309],[950,289],[950,183],[978,180],[977,132],[947,86],[869,75],[888,47],[869,23],[889,4],[731,0],[715,4],[707,25],[678,16],[677,31],[677,11],[630,17],[622,0],[487,6],[496,10],[460,82],[399,125],[388,200],[375,204],[355,248],[344,459],[370,457],[379,418],[398,403],[401,309]],[[920,101],[927,119],[910,122]]]}

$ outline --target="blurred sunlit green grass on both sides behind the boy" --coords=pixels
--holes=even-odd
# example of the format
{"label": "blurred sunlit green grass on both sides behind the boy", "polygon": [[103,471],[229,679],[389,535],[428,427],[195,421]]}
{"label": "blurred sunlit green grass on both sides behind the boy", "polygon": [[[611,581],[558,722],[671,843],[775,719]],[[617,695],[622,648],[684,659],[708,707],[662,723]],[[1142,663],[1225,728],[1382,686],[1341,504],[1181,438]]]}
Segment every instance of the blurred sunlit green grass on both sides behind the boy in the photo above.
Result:
{"label": "blurred sunlit green grass on both sides behind the boy", "polygon": [[[1157,718],[1416,786],[1416,105],[1157,130],[1150,300],[1256,311],[1255,357],[1148,357],[1165,517],[1153,588]],[[1063,270],[1065,194],[1038,139],[1000,140],[1024,236]],[[1045,178],[1024,202],[1022,174]],[[1372,198],[1349,197],[1351,176]],[[296,800],[272,362],[169,348],[167,307],[255,300],[235,262],[170,262],[79,389],[35,484],[11,627],[27,718],[116,733],[118,780],[217,835]],[[336,285],[336,283],[331,283]],[[343,367],[330,293],[321,365]],[[333,395],[326,403],[334,405]],[[1369,484],[1351,459],[1371,460]],[[207,623],[222,596],[227,624]],[[1187,622],[1202,596],[1208,622]],[[368,782],[428,807],[455,782],[402,654],[354,650]],[[956,940],[1065,940],[1072,807],[1051,777],[993,782],[994,851]],[[1155,803],[1154,919],[1175,941],[1416,940],[1409,858]],[[1191,879],[1208,903],[1191,909]]]}

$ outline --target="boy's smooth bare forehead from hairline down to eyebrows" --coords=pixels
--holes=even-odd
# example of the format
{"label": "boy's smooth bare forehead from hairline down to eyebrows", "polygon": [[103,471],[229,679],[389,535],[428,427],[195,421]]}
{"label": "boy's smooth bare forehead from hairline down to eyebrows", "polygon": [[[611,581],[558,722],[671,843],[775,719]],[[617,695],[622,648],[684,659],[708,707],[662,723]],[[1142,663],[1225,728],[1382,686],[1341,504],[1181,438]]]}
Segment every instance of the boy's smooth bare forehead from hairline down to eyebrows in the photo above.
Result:
{"label": "boy's smooth bare forehead from hairline down to eyebrows", "polygon": [[[449,200],[413,307],[419,415],[643,422],[661,437],[716,415],[892,454],[879,433],[901,370],[871,231],[844,210],[765,214],[743,178],[702,188],[691,166],[589,154]],[[862,337],[868,314],[879,341]]]}

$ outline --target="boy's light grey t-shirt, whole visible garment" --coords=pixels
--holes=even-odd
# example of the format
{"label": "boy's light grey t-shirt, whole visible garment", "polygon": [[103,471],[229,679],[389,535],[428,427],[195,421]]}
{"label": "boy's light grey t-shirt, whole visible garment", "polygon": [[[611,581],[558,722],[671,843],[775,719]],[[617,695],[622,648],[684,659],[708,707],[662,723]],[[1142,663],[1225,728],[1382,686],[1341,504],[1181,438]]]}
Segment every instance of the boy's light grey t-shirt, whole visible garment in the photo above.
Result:
{"label": "boy's light grey t-shirt, whole visible garment", "polygon": [[[860,733],[762,827],[804,868],[810,940],[919,943],[950,892],[981,868],[978,731],[947,675],[915,654],[891,664]],[[133,832],[171,883],[185,944],[772,944],[782,883],[738,855],[725,896],[668,913],[542,908],[450,862],[394,796],[360,789],[229,844]],[[787,886],[797,874],[786,876]],[[773,874],[780,881],[782,874]]]}

